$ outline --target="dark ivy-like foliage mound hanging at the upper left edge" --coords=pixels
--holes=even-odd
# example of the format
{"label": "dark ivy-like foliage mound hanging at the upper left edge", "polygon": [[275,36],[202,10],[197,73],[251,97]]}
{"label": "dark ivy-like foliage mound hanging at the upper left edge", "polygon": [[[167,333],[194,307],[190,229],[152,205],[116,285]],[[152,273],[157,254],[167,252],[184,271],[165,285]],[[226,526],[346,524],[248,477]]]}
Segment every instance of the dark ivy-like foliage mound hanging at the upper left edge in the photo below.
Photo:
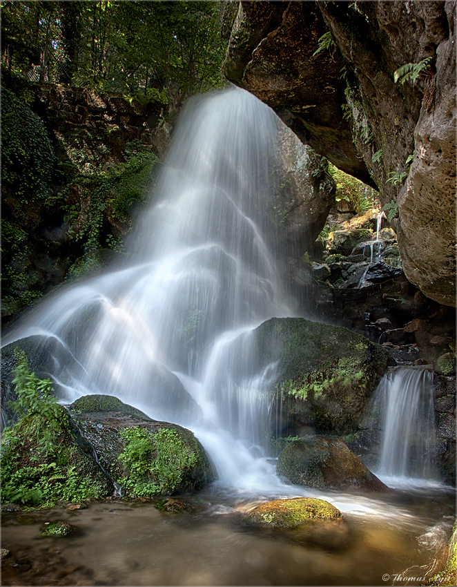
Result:
{"label": "dark ivy-like foliage mound hanging at the upper left edge", "polygon": [[22,202],[46,198],[54,149],[43,122],[12,92],[1,93],[1,180]]}

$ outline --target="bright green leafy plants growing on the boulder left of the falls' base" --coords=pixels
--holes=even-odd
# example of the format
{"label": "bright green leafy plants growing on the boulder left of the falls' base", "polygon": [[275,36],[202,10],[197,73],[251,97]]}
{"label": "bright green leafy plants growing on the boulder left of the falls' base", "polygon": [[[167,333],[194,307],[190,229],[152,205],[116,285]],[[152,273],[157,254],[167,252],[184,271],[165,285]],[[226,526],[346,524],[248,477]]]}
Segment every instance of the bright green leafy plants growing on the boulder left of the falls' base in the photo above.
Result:
{"label": "bright green leafy plants growing on the boulder left of the falls' base", "polygon": [[152,433],[136,426],[120,434],[124,450],[119,460],[128,470],[121,483],[138,497],[173,493],[184,472],[197,463],[197,454],[184,445],[176,430]]}

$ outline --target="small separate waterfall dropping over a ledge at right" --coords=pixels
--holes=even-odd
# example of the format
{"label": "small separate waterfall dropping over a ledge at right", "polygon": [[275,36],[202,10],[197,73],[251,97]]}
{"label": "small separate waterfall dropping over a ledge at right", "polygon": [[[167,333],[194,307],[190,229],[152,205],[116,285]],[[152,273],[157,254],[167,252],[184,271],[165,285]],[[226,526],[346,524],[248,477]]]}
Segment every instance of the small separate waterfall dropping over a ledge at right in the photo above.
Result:
{"label": "small separate waterfall dropping over a ledge at right", "polygon": [[436,479],[432,384],[429,369],[398,367],[378,386],[373,405],[382,430],[377,471],[381,477]]}

